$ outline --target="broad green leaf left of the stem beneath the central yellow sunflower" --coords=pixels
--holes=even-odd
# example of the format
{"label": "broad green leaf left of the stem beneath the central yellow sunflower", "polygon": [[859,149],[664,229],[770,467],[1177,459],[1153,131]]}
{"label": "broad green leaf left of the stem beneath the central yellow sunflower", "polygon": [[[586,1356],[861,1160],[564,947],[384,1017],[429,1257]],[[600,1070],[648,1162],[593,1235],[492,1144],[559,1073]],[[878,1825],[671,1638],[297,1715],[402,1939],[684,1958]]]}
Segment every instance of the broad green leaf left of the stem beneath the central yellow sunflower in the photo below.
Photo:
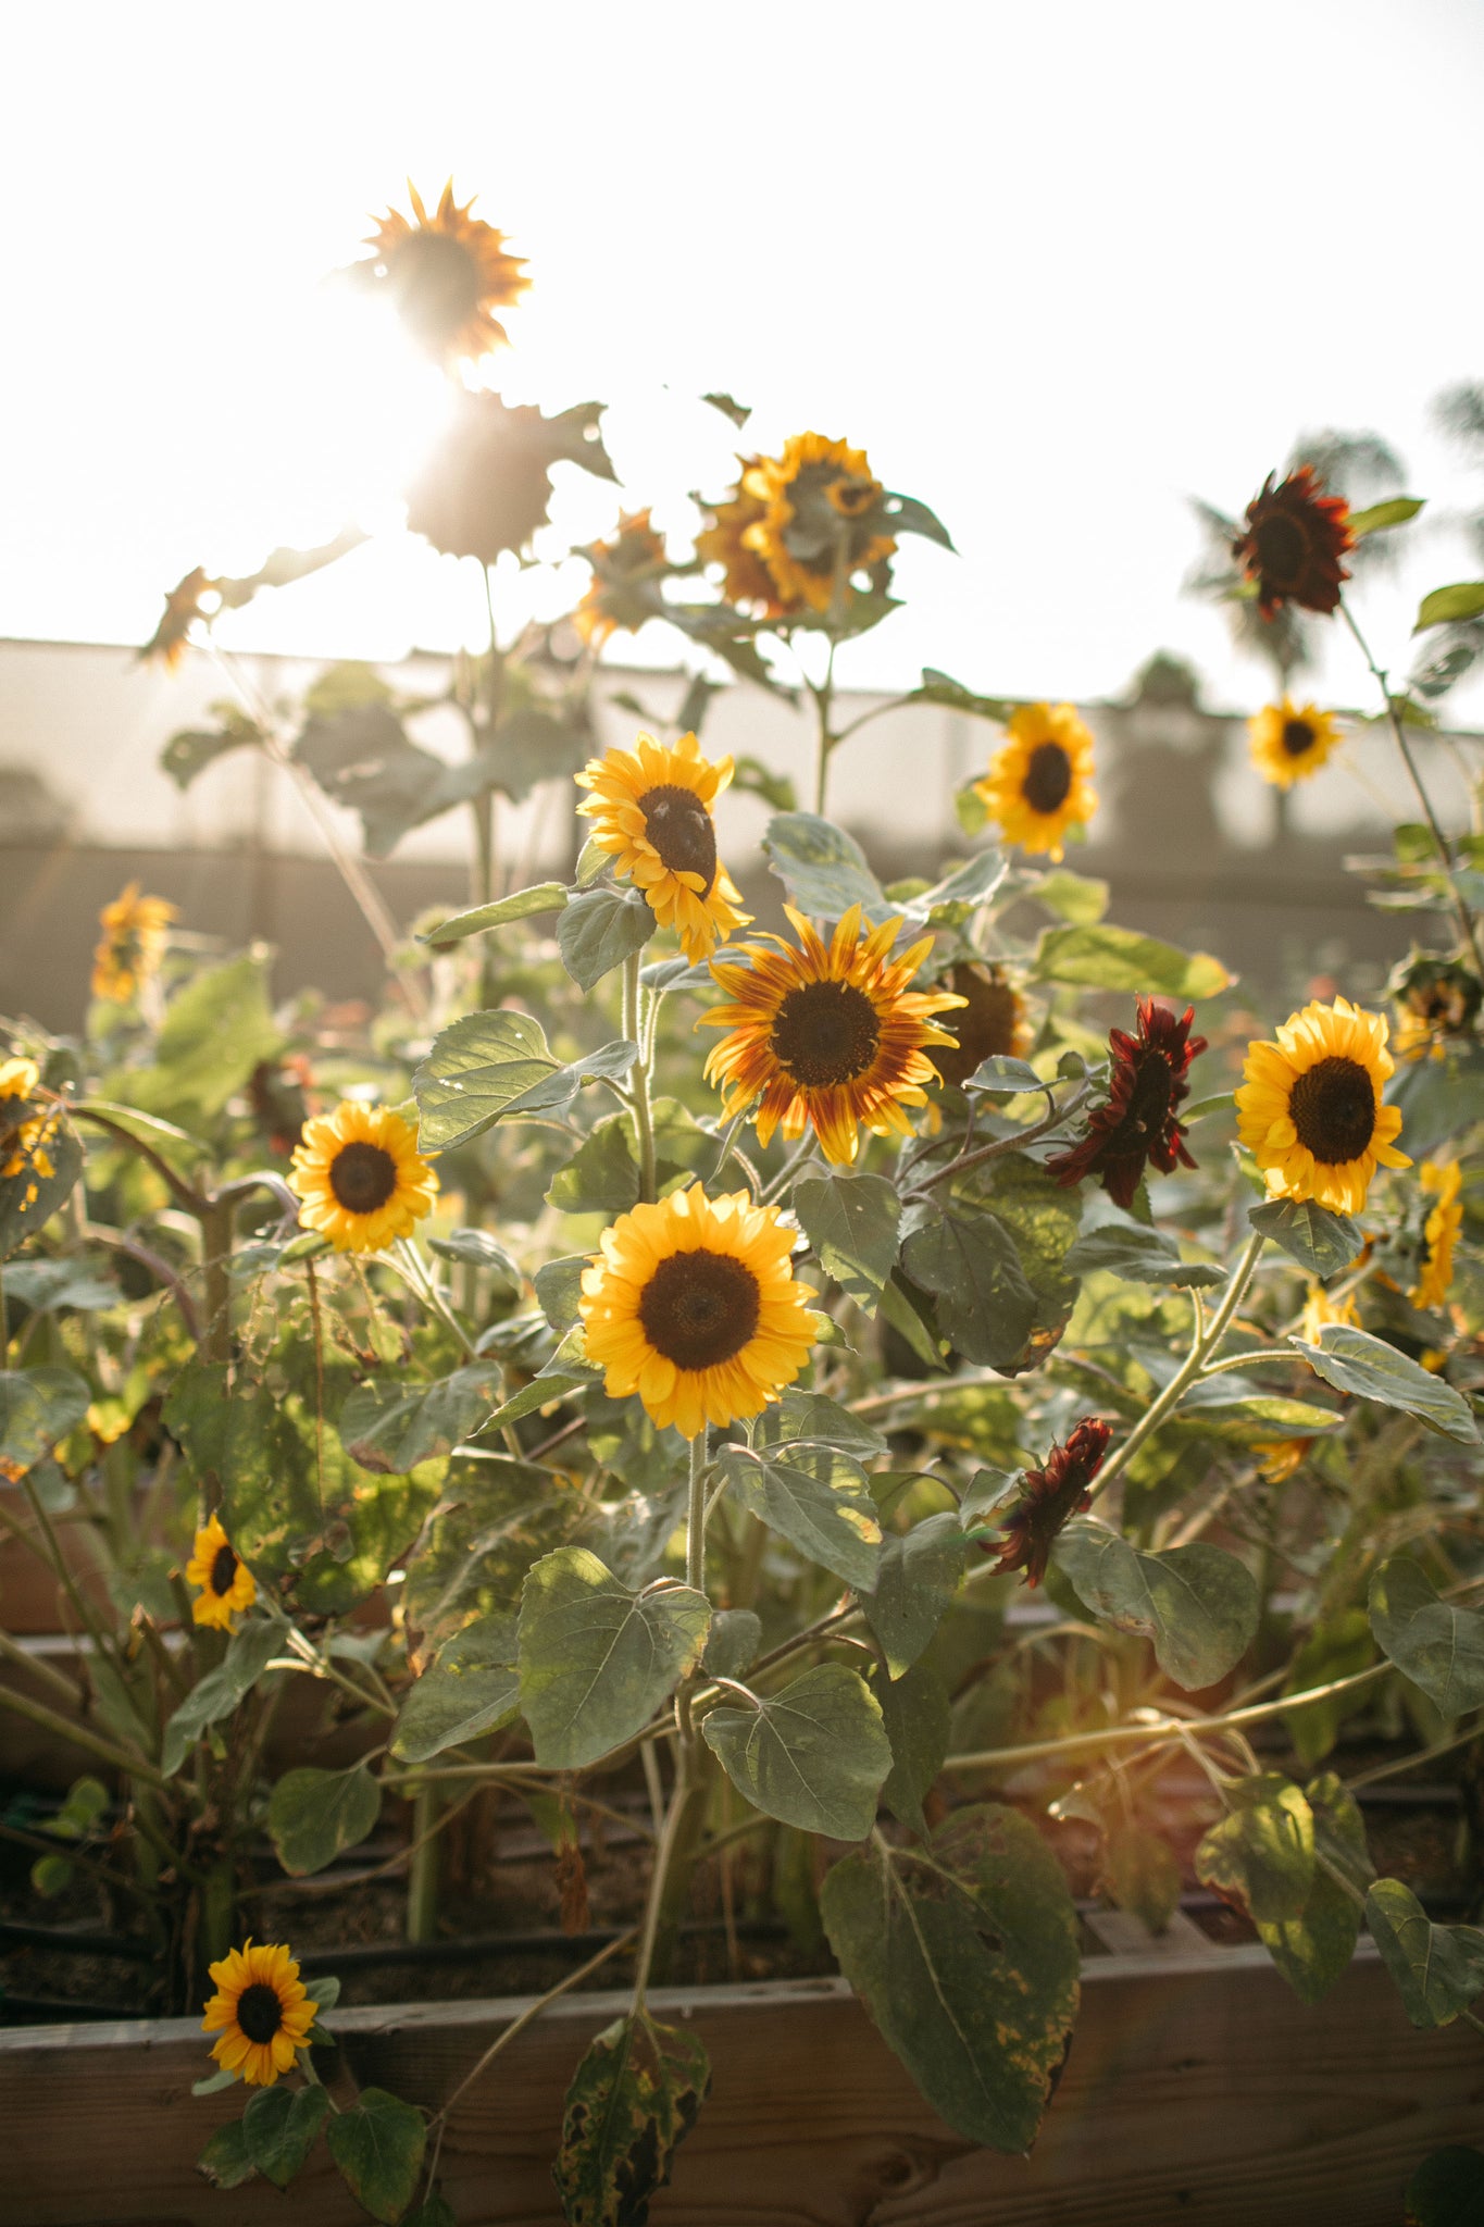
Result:
{"label": "broad green leaf left of the stem beneath the central yellow sunflower", "polygon": [[581,1770],[643,1733],[701,1661],[710,1621],[690,1586],[630,1592],[585,1548],[543,1554],[521,1595],[521,1713],[536,1762]]}

